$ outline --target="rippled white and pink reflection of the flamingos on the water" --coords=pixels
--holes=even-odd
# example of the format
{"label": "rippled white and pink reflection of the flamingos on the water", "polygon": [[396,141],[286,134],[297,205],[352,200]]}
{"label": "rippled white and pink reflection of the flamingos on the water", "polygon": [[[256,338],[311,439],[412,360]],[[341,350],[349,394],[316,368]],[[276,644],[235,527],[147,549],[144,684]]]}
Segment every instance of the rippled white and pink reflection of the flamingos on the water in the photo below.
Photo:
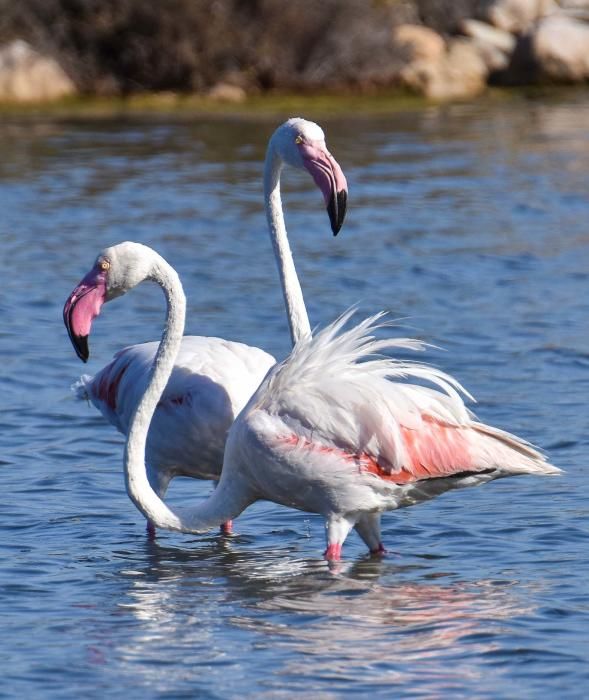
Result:
{"label": "rippled white and pink reflection of the flamingos on the water", "polygon": [[[151,543],[143,563],[121,571],[130,585],[119,608],[141,624],[112,650],[115,657],[145,661],[158,656],[160,644],[168,655],[174,640],[198,650],[199,664],[216,664],[223,658],[215,644],[221,617],[253,635],[250,644],[263,657],[256,666],[273,659],[276,680],[262,686],[287,684],[291,692],[313,679],[329,679],[332,689],[361,680],[366,690],[419,682],[442,692],[489,674],[485,657],[500,648],[501,623],[533,611],[516,582],[415,580],[416,567],[386,560],[344,562],[334,573],[322,561],[244,553],[223,542],[198,552]],[[456,651],[462,641],[466,658]],[[156,682],[150,663],[142,669]]]}

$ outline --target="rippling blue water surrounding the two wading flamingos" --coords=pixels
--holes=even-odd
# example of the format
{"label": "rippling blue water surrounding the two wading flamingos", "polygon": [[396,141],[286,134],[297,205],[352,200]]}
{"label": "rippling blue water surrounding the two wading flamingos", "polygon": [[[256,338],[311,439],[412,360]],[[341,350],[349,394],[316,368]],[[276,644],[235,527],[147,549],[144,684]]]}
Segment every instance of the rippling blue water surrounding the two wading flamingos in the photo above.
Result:
{"label": "rippling blue water surrounding the two wading flamingos", "polygon": [[[178,269],[187,332],[289,339],[261,207],[272,120],[0,124],[0,697],[582,698],[589,683],[589,99],[324,120],[350,185],[285,206],[314,324],[388,309],[486,422],[559,478],[506,479],[384,517],[389,555],[272,504],[237,535],[160,533],[122,438],[70,384],[155,339],[157,288],[109,304],[77,360],[66,296],[104,246]],[[210,485],[172,484],[194,501]]]}

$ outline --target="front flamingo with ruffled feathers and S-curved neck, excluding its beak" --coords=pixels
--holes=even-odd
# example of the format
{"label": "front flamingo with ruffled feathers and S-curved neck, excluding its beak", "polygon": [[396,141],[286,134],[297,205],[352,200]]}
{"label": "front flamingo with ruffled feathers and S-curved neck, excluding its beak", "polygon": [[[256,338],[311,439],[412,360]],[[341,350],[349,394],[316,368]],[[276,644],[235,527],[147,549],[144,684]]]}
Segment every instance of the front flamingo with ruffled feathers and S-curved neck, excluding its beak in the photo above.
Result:
{"label": "front flamingo with ruffled feathers and S-curved neck, excluding its beak", "polygon": [[162,287],[168,310],[131,417],[124,470],[131,500],[158,527],[202,532],[264,499],[322,515],[328,560],[341,558],[352,528],[381,555],[383,511],[500,477],[560,472],[529,443],[478,422],[464,404],[463,396],[472,397],[448,374],[382,356],[422,350],[422,343],[377,339],[383,314],[346,328],[348,312],[297,342],[269,370],[231,426],[212,495],[196,507],[172,509],[151,486],[145,454],[150,422],[182,343],[182,285],[155,251],[130,242],[103,251],[85,284],[89,294],[96,290],[108,300],[144,279]]}

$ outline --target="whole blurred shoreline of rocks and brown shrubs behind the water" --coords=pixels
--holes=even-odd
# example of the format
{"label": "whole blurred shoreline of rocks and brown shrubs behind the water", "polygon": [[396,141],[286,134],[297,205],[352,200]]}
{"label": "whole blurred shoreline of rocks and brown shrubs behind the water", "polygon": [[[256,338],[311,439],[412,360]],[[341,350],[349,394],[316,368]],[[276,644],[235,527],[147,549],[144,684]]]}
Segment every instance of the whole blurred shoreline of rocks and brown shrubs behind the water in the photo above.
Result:
{"label": "whole blurred shoreline of rocks and brown shrubs behind the water", "polygon": [[[589,0],[0,0],[0,100],[589,82]],[[73,8],[73,9],[72,9]]]}

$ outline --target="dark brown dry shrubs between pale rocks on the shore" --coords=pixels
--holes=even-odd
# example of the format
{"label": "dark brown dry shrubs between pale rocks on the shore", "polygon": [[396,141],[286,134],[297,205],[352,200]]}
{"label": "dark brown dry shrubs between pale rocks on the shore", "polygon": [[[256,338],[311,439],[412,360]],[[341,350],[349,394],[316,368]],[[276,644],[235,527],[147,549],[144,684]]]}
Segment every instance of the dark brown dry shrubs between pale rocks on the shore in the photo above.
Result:
{"label": "dark brown dry shrubs between pale rocks on the shore", "polygon": [[0,39],[30,40],[98,94],[387,85],[392,27],[418,17],[400,0],[0,0],[0,16]]}

